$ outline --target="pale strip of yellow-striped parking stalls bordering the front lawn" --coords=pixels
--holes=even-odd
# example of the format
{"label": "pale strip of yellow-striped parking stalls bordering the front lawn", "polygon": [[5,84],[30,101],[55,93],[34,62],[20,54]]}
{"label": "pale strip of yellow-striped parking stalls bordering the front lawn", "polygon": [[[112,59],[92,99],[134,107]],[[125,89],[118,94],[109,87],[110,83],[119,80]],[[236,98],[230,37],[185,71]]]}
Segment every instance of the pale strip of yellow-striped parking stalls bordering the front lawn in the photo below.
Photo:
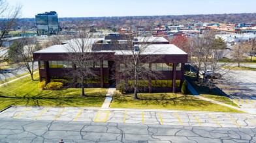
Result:
{"label": "pale strip of yellow-striped parking stalls bordering the front lawn", "polygon": [[84,109],[79,107],[10,107],[0,113],[1,119],[145,123],[203,127],[256,127],[255,114],[174,110]]}

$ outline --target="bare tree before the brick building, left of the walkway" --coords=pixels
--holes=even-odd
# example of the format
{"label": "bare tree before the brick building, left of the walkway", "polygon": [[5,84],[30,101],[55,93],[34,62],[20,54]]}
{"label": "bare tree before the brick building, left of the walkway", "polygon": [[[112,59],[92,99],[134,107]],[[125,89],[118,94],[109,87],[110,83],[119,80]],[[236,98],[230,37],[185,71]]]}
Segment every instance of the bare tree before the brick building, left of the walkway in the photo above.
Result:
{"label": "bare tree before the brick building, left of the walkway", "polygon": [[85,84],[91,78],[97,76],[97,73],[93,68],[99,66],[100,56],[95,56],[91,51],[91,47],[94,40],[88,38],[90,33],[86,27],[80,27],[76,31],[77,33],[72,35],[72,40],[69,40],[66,44],[67,59],[72,62],[72,71],[69,72],[72,75],[73,83],[80,83],[82,88],[81,96],[86,96],[84,93]]}

